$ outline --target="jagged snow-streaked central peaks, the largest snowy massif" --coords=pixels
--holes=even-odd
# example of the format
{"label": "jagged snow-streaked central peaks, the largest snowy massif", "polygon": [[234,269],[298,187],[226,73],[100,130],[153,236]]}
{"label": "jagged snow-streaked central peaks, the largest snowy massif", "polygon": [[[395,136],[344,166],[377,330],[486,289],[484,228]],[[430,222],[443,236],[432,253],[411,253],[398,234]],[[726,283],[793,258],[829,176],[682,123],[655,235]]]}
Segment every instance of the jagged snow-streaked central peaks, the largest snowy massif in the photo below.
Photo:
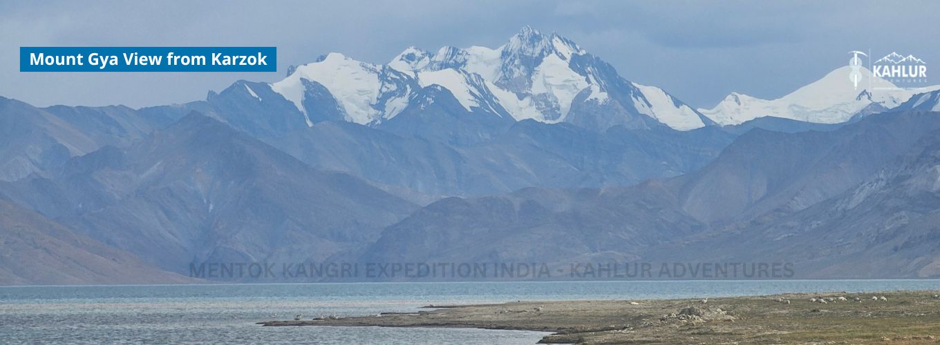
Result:
{"label": "jagged snow-streaked central peaks, the largest snowy massif", "polygon": [[333,52],[292,68],[271,89],[304,113],[307,126],[323,117],[313,114],[317,101],[312,98],[326,98],[318,90],[333,98],[325,101],[336,101],[343,120],[380,126],[407,108],[420,89],[435,84],[470,113],[515,121],[567,122],[597,130],[659,124],[689,130],[713,124],[662,89],[621,78],[572,40],[529,26],[495,49],[409,47],[385,65]]}

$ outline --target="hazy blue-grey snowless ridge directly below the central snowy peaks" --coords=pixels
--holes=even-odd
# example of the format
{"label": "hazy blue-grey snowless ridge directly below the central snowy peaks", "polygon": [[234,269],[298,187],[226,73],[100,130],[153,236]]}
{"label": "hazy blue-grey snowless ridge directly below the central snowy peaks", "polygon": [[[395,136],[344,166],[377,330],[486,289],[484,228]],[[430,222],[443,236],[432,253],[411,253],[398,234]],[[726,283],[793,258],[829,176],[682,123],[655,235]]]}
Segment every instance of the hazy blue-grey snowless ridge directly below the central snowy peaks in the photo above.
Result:
{"label": "hazy blue-grey snowless ridge directly below the central snowy peaks", "polygon": [[324,122],[271,143],[311,166],[383,186],[428,195],[480,196],[528,187],[628,186],[675,176],[704,166],[733,139],[717,128],[611,128],[598,133],[521,121],[487,142],[451,145]]}

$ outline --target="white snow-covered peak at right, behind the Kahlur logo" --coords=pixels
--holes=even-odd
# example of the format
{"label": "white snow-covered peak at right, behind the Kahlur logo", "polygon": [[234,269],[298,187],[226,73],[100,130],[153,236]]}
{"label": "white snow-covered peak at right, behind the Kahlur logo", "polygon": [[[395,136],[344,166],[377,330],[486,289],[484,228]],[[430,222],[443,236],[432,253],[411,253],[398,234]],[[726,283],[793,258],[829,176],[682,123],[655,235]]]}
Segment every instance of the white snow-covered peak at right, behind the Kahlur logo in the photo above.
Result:
{"label": "white snow-covered peak at right, behind the Kahlur logo", "polygon": [[865,67],[861,68],[863,81],[855,89],[853,83],[849,82],[850,71],[851,67],[838,67],[823,79],[811,82],[782,98],[761,99],[734,92],[714,108],[698,109],[698,112],[722,126],[738,125],[764,116],[838,124],[872,108],[892,109],[915,94],[940,89],[940,85],[918,89],[899,88],[894,83],[872,76]]}

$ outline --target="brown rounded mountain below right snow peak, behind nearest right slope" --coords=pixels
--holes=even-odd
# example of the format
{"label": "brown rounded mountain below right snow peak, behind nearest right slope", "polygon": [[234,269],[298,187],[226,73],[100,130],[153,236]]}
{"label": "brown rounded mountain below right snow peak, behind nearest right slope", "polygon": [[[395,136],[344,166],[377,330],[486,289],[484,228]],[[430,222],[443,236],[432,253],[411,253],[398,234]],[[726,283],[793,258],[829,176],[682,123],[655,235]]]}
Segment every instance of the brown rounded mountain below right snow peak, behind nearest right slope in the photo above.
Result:
{"label": "brown rounded mountain below right snow peak, behind nearest right slope", "polygon": [[753,129],[682,177],[682,208],[706,222],[798,211],[860,183],[937,128],[933,113],[882,113],[829,132]]}

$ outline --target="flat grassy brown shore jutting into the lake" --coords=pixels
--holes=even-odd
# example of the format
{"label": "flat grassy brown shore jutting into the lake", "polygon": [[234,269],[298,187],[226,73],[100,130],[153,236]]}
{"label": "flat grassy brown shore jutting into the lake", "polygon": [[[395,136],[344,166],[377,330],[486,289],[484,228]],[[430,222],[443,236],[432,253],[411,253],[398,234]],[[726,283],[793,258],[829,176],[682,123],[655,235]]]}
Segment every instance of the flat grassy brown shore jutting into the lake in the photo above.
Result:
{"label": "flat grassy brown shore jutting into the lake", "polygon": [[[791,293],[709,298],[705,303],[699,299],[515,302],[258,324],[552,332],[541,339],[543,343],[938,343],[940,299],[932,298],[935,293],[940,292]],[[826,302],[811,301],[817,297]],[[860,301],[854,301],[856,297]]]}

